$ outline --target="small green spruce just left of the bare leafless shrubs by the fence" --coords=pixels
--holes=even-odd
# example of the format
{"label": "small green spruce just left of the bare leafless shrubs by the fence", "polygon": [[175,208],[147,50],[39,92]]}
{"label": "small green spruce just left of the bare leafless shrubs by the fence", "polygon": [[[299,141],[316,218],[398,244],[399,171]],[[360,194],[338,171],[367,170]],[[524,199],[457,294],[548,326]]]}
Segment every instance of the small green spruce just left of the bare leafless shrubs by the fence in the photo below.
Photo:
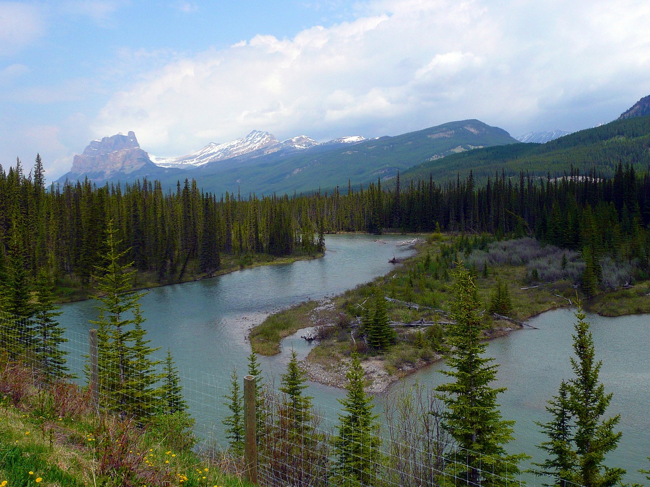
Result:
{"label": "small green spruce just left of the bare leafless shrubs by the fence", "polygon": [[364,390],[365,372],[359,357],[352,356],[346,373],[345,399],[339,399],[345,414],[339,414],[339,434],[334,438],[334,455],[338,457],[334,472],[337,485],[360,487],[375,485],[380,458],[378,414],[372,414],[372,396]]}

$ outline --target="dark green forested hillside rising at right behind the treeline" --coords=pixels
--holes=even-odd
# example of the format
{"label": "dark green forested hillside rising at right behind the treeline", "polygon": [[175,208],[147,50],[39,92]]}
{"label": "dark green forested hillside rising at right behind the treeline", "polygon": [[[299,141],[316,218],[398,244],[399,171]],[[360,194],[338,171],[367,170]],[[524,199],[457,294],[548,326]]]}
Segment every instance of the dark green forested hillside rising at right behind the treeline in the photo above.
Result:
{"label": "dark green forested hillside rising at right behind the treeline", "polygon": [[403,180],[447,181],[457,174],[467,177],[473,171],[476,182],[483,183],[495,173],[558,177],[571,169],[580,169],[596,177],[612,177],[619,163],[635,169],[650,164],[650,116],[616,120],[552,140],[546,144],[511,144],[476,149],[424,162],[402,173]]}

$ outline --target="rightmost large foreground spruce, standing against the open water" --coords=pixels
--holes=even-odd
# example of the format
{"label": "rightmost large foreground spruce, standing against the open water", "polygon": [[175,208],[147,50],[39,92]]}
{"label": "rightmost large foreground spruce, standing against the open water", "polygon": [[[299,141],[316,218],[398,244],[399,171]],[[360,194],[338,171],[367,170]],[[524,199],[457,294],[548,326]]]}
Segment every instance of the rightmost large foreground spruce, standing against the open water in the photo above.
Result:
{"label": "rightmost large foreground spruce, standing against the open water", "polygon": [[[579,303],[575,316],[578,320],[573,335],[575,357],[571,357],[575,377],[564,387],[560,386],[558,397],[565,396],[564,410],[551,411],[554,419],[543,425],[551,441],[543,443],[542,448],[547,449],[545,445],[552,444],[554,438],[563,438],[554,451],[547,449],[554,456],[551,462],[557,465],[554,474],[560,477],[558,483],[571,481],[584,487],[612,487],[625,475],[625,469],[603,465],[606,454],[616,449],[621,439],[621,432],[614,431],[619,416],[604,418],[612,393],[604,393],[604,385],[599,383],[602,362],[595,362],[590,324]],[[568,418],[571,418],[570,433],[564,431]],[[573,461],[573,469],[565,468],[569,461]]]}

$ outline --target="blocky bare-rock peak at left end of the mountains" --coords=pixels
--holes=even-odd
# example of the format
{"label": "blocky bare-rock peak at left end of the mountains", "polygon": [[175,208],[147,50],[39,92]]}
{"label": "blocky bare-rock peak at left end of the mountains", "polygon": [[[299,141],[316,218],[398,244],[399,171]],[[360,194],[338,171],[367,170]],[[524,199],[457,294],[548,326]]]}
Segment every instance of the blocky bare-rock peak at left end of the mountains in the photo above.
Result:
{"label": "blocky bare-rock peak at left end of the mountains", "polygon": [[140,149],[135,133],[129,132],[90,142],[83,154],[75,155],[70,173],[93,174],[96,179],[101,179],[115,173],[132,173],[146,164],[153,163]]}

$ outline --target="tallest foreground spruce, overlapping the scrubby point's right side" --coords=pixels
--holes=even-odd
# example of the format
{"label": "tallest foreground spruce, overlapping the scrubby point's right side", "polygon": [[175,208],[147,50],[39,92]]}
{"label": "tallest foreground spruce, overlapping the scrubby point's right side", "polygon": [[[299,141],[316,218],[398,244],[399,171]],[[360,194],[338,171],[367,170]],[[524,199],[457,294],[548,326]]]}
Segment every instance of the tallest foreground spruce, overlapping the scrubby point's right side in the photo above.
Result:
{"label": "tallest foreground spruce, overlapping the scrubby point's right side", "polygon": [[504,445],[512,441],[513,421],[501,419],[497,395],[505,388],[492,388],[497,366],[484,356],[484,324],[476,297],[476,288],[469,272],[459,264],[454,271],[455,300],[447,327],[450,350],[443,371],[452,379],[436,388],[443,393],[446,412],[443,427],[458,443],[456,462],[448,473],[454,481],[467,485],[505,485],[519,473],[517,464],[525,455],[508,455]]}

